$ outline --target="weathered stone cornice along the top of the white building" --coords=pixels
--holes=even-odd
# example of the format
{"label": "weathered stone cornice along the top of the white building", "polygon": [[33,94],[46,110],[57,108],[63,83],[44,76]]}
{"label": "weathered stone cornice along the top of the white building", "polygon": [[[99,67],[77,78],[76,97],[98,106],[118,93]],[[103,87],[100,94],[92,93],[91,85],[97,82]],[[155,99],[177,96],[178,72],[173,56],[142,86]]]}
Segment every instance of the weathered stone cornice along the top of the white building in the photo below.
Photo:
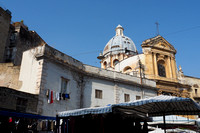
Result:
{"label": "weathered stone cornice along the top of the white building", "polygon": [[63,54],[62,52],[48,45],[40,46],[40,50],[38,50],[38,52],[35,53],[35,57],[38,60],[44,59],[49,60],[53,63],[57,63],[59,65],[62,65],[64,68],[77,71],[85,76],[92,76],[100,79],[110,80],[113,82],[131,84],[142,88],[151,88],[154,90],[157,89],[156,83],[153,80],[143,79],[143,84],[140,84],[141,81],[138,77],[85,65],[82,62],[66,54]]}

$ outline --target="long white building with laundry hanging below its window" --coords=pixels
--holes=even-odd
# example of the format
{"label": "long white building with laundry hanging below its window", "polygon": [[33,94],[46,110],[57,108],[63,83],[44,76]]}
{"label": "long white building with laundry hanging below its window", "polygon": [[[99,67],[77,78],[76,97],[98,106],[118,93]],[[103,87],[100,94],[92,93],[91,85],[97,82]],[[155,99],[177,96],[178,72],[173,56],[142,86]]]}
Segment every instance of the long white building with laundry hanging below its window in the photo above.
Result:
{"label": "long white building with laundry hanging below its window", "polygon": [[157,95],[152,80],[84,65],[48,45],[24,52],[19,80],[20,91],[39,95],[44,116]]}

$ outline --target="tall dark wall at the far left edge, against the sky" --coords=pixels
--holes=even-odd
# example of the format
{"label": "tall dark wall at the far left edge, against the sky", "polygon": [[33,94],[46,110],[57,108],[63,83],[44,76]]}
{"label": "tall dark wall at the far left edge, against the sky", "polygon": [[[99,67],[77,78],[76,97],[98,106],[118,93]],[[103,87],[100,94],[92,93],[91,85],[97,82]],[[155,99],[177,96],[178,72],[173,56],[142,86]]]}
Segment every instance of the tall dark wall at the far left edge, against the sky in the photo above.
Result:
{"label": "tall dark wall at the far left edge, against the sky", "polygon": [[8,39],[11,14],[0,7],[0,62],[4,61],[6,41]]}

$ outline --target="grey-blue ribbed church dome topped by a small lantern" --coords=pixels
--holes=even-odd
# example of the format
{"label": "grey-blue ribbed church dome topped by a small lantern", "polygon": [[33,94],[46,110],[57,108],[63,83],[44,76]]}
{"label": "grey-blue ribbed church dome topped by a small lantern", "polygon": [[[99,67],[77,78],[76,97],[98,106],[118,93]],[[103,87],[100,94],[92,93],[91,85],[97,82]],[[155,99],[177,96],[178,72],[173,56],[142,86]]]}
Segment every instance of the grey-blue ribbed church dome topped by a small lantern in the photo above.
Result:
{"label": "grey-blue ribbed church dome topped by a small lantern", "polygon": [[119,54],[126,53],[134,55],[137,50],[134,42],[127,36],[124,36],[123,31],[124,28],[121,25],[118,25],[115,29],[116,35],[110,39],[110,41],[106,44],[103,55],[107,54]]}

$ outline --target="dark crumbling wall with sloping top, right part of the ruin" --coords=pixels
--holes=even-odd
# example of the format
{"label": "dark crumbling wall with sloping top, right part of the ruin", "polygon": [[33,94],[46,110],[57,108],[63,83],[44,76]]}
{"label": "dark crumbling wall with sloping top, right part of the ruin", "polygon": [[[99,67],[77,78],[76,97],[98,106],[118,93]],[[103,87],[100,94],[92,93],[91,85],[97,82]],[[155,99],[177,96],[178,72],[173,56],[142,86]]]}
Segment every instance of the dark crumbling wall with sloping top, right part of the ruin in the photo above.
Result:
{"label": "dark crumbling wall with sloping top, right part of the ruin", "polygon": [[4,61],[20,65],[24,51],[33,47],[46,44],[45,41],[35,32],[28,30],[23,21],[10,25]]}

